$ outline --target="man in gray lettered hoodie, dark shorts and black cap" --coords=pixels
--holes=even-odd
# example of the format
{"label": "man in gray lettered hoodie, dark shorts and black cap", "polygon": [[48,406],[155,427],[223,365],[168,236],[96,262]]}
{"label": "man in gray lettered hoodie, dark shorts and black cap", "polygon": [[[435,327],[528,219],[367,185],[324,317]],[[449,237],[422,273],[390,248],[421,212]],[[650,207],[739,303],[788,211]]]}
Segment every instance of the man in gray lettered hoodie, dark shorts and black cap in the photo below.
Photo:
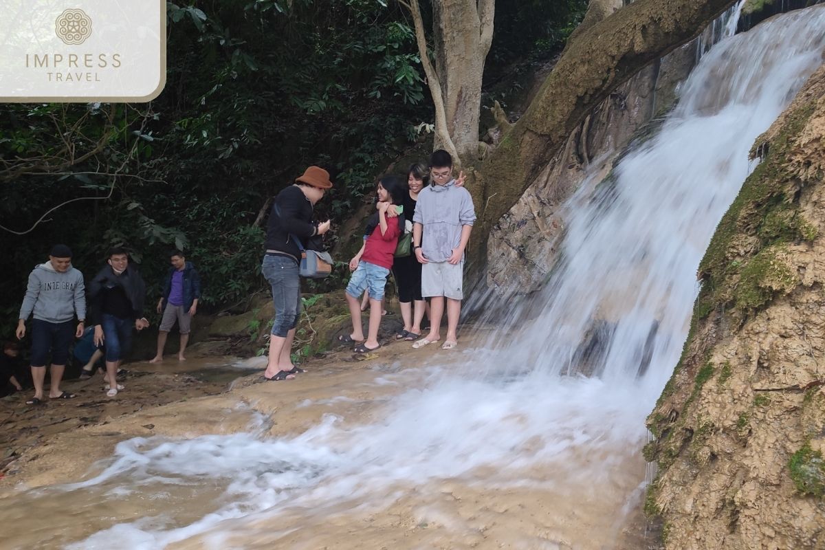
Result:
{"label": "man in gray lettered hoodie, dark shorts and black cap", "polygon": [[[72,251],[64,244],[54,245],[49,261],[36,266],[29,275],[26,297],[20,308],[16,335],[26,336],[26,320],[34,313],[31,322],[31,378],[35,383],[35,397],[27,405],[44,401],[43,384],[46,377],[46,360],[51,353],[51,385],[49,397],[71,399],[73,393],[60,391],[60,380],[68,360],[68,348],[72,336],[83,334],[86,322],[86,294],[83,275],[72,267]],[[74,327],[74,316],[78,326]]]}

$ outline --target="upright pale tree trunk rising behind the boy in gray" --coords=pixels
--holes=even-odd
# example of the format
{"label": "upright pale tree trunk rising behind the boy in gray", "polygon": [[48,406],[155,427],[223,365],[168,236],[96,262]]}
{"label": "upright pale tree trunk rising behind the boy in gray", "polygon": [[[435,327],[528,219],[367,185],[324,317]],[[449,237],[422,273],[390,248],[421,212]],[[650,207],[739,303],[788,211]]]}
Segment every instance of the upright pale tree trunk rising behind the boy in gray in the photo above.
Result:
{"label": "upright pale tree trunk rising behind the boy in gray", "polygon": [[[493,38],[493,0],[436,0],[433,37],[436,72],[456,153],[472,160],[479,151],[481,78]],[[436,148],[444,143],[436,139]]]}

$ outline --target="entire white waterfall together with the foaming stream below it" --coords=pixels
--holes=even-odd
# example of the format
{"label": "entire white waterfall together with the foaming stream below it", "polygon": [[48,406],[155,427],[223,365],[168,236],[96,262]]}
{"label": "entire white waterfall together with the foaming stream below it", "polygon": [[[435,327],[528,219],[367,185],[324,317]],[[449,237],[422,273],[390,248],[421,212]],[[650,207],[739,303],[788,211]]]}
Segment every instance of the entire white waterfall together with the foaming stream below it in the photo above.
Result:
{"label": "entire white waterfall together with the foaming stream below it", "polygon": [[22,494],[0,522],[71,503],[84,529],[40,548],[621,547],[696,267],[754,139],[823,62],[823,30],[825,7],[811,7],[705,53],[658,134],[570,200],[529,322],[515,304],[450,364],[382,375],[394,390],[371,402],[341,397],[368,415],[331,407],[290,437],[125,441],[93,477]]}

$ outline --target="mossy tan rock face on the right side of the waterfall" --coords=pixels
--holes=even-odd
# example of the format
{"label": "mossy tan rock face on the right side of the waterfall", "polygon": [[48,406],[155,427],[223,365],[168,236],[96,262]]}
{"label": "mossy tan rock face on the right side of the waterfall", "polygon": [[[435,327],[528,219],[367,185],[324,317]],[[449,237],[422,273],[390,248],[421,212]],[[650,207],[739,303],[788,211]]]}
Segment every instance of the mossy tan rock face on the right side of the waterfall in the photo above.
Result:
{"label": "mossy tan rock face on the right side of the waterfall", "polygon": [[825,65],[757,139],[648,417],[666,548],[825,548],[823,136]]}

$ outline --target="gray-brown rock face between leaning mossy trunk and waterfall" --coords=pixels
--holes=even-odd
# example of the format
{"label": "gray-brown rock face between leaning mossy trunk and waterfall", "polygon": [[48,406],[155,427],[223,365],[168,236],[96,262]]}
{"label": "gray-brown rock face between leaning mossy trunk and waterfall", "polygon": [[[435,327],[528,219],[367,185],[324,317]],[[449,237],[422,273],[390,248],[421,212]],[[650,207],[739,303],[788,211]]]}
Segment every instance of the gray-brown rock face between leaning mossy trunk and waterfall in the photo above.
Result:
{"label": "gray-brown rock face between leaning mossy trunk and waterfall", "polygon": [[[615,9],[621,0],[614,2]],[[606,9],[602,5],[600,9]],[[589,12],[588,12],[589,13]],[[563,234],[561,208],[586,178],[601,181],[631,139],[676,102],[676,87],[695,64],[695,41],[643,68],[610,94],[570,134],[521,199],[493,227],[488,287],[529,293],[547,279]],[[506,282],[506,283],[505,283]]]}

